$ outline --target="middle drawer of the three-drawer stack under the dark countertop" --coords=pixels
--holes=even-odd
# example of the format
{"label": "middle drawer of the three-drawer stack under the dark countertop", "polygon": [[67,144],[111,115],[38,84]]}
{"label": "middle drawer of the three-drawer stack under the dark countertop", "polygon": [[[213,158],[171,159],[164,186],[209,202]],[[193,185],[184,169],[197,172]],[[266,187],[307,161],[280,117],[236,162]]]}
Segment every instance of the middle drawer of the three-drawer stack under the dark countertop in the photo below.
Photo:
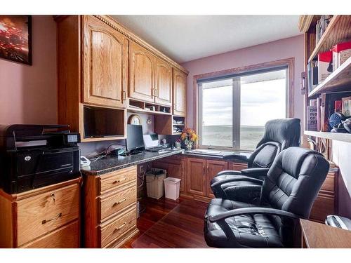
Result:
{"label": "middle drawer of the three-drawer stack under the dark countertop", "polygon": [[100,196],[100,222],[136,202],[136,186],[128,184],[113,194]]}

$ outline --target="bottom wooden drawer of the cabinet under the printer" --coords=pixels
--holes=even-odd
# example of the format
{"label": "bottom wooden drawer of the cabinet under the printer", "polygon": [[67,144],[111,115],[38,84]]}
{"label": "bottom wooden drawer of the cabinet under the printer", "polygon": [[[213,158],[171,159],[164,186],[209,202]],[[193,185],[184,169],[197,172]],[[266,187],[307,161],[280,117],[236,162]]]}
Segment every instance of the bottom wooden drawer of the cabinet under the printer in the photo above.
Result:
{"label": "bottom wooden drawer of the cabinet under the printer", "polygon": [[21,248],[79,248],[79,222],[76,220]]}

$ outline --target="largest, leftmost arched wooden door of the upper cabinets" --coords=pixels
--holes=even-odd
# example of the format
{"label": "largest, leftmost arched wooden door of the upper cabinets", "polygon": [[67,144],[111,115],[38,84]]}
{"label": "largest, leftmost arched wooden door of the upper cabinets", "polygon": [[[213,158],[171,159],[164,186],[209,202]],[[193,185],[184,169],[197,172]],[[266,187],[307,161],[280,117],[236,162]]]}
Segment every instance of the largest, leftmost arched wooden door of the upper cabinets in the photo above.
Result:
{"label": "largest, leftmost arched wooden door of the upper cabinets", "polygon": [[125,107],[128,40],[93,16],[84,16],[83,101]]}

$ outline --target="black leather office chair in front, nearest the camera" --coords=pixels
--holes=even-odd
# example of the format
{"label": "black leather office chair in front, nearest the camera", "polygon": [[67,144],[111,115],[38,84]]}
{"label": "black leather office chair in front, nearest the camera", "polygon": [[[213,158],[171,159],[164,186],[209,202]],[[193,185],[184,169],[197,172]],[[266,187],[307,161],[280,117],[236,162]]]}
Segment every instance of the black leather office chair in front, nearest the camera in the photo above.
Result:
{"label": "black leather office chair in front, nearest the camera", "polygon": [[328,170],[328,161],[316,151],[282,151],[265,177],[259,206],[211,200],[205,215],[206,243],[217,248],[291,247],[298,219],[309,217]]}

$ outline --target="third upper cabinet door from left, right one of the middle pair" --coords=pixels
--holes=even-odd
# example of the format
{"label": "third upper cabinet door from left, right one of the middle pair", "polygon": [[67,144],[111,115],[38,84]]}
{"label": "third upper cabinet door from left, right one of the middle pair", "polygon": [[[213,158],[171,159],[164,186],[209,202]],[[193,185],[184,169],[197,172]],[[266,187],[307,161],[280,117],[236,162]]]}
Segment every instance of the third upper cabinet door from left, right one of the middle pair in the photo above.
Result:
{"label": "third upper cabinet door from left, right one of the middle pair", "polygon": [[172,105],[172,67],[159,58],[156,59],[154,102]]}

